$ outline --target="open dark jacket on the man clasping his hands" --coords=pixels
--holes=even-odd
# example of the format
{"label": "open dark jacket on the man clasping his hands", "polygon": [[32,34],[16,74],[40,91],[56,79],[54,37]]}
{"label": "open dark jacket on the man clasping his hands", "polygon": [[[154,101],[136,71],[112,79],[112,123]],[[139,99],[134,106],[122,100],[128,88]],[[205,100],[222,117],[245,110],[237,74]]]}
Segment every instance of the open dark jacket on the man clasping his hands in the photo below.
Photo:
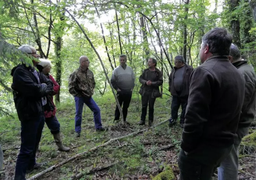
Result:
{"label": "open dark jacket on the man clasping his hands", "polygon": [[[142,84],[141,85],[141,89],[139,89],[139,94],[141,94],[142,96],[144,96],[145,92],[146,92],[146,82],[147,82],[147,75],[148,75],[148,69],[145,69],[142,72],[142,75],[140,75],[139,77],[139,82]],[[153,91],[152,91],[152,98],[157,98],[157,97],[161,97],[160,91],[159,91],[159,86],[161,86],[163,84],[163,74],[162,72],[156,68],[155,70],[155,74],[154,74],[154,81],[152,82],[152,86],[153,86]]]}

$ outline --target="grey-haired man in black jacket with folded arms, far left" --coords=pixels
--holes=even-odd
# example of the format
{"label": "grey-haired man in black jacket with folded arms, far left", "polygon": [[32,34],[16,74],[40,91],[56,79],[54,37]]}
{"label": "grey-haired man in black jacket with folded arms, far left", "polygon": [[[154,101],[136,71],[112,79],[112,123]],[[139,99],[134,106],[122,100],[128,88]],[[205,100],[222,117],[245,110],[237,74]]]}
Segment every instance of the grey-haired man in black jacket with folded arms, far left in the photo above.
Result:
{"label": "grey-haired man in black jacket with folded arms, far left", "polygon": [[[22,45],[19,47],[24,53],[32,55],[33,65],[39,61],[34,47]],[[14,180],[24,180],[26,171],[40,166],[36,163],[36,146],[41,139],[45,124],[44,110],[52,105],[47,101],[47,94],[52,94],[52,81],[39,73],[34,66],[23,62],[12,69],[12,89],[15,108],[21,121],[21,148],[17,157]],[[45,109],[46,108],[46,109]]]}

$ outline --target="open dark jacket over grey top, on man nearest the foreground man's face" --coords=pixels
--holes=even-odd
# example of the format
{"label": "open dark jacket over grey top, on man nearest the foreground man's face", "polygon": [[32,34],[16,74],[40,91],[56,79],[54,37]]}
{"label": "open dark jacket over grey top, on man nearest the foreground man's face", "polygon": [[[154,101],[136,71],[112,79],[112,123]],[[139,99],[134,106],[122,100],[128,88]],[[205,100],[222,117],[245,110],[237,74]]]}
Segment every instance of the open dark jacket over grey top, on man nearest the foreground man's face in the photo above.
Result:
{"label": "open dark jacket over grey top, on man nearest the foreground man's face", "polygon": [[193,71],[193,67],[190,65],[185,64],[185,71],[183,74],[183,84],[181,87],[181,92],[180,94],[178,94],[174,88],[173,85],[173,78],[174,78],[174,73],[176,71],[176,67],[174,67],[172,69],[171,74],[169,75],[169,91],[171,93],[172,96],[180,96],[180,97],[188,97],[188,93],[189,93],[189,83],[190,83],[190,75],[191,72]]}

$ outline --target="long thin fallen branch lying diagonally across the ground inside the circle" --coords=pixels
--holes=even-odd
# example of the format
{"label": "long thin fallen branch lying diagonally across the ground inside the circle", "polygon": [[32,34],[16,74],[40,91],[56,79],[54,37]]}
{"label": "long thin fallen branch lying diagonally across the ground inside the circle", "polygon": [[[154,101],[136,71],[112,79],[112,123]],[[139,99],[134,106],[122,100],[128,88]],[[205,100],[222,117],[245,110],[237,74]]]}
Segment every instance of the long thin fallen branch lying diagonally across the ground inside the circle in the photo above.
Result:
{"label": "long thin fallen branch lying diagonally across the ground inside the circle", "polygon": [[[159,126],[159,125],[161,125],[161,124],[163,124],[163,123],[166,123],[166,122],[168,122],[168,121],[169,121],[169,120],[162,121],[161,123],[158,123],[158,124],[152,126],[152,128],[154,128],[154,127],[156,127],[156,126]],[[131,133],[131,134],[128,134],[128,135],[125,135],[125,136],[121,136],[121,137],[117,137],[117,138],[114,138],[114,139],[110,139],[108,142],[105,142],[105,143],[103,143],[103,144],[100,144],[99,146],[96,146],[96,147],[94,147],[94,148],[92,148],[92,149],[89,149],[89,150],[87,150],[87,151],[84,151],[84,152],[82,152],[82,153],[76,154],[76,155],[74,155],[74,156],[72,156],[72,157],[70,157],[70,158],[68,158],[68,159],[66,159],[66,160],[64,160],[64,161],[62,161],[62,162],[60,162],[60,163],[58,163],[58,164],[55,164],[55,165],[53,165],[53,166],[51,166],[51,167],[45,169],[44,171],[39,172],[38,174],[36,174],[35,176],[32,176],[31,178],[29,178],[29,179],[27,179],[27,180],[35,180],[35,179],[37,179],[37,178],[39,178],[39,177],[45,175],[46,173],[51,172],[51,171],[53,171],[54,169],[56,169],[56,168],[58,168],[58,167],[60,167],[60,166],[62,166],[62,165],[64,165],[64,164],[66,164],[66,163],[68,163],[68,162],[70,162],[70,161],[75,160],[77,157],[81,157],[81,156],[87,154],[88,152],[92,152],[92,151],[95,151],[95,150],[99,149],[100,147],[107,146],[108,144],[110,144],[110,143],[113,142],[113,141],[116,141],[116,140],[119,140],[119,139],[123,139],[123,138],[129,137],[129,136],[133,136],[133,135],[142,133],[142,132],[144,132],[144,131],[147,131],[148,129],[149,129],[149,128],[142,129],[142,130],[138,130],[138,131],[135,131],[135,132],[133,132],[133,133]]]}

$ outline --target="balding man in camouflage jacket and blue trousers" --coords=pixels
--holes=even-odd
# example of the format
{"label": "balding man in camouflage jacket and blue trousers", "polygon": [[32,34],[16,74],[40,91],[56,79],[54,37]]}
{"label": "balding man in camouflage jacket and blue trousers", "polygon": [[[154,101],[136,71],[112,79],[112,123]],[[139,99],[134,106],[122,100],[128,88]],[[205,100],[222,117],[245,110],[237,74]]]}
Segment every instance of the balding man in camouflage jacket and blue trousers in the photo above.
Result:
{"label": "balding man in camouflage jacket and blue trousers", "polygon": [[81,136],[82,113],[84,103],[93,111],[96,131],[106,130],[102,127],[100,109],[92,96],[95,88],[94,74],[88,69],[90,61],[87,56],[79,58],[80,67],[69,77],[69,93],[75,98],[75,131],[76,137]]}

